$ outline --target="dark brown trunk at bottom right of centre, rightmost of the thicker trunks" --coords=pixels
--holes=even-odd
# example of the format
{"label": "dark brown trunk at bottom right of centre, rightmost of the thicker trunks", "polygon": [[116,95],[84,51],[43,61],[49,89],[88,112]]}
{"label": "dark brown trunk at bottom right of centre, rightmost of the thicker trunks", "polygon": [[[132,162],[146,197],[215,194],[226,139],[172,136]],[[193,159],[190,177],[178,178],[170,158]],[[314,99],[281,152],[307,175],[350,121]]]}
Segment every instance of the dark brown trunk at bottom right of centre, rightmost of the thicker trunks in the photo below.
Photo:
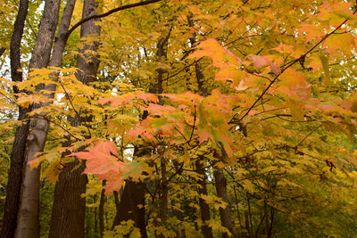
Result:
{"label": "dark brown trunk at bottom right of centre, rightmost of the thicker trunks", "polygon": [[222,226],[226,227],[231,235],[227,233],[223,234],[223,238],[234,238],[236,234],[234,233],[232,218],[230,216],[229,200],[227,193],[227,179],[223,174],[222,168],[216,168],[213,172],[217,196],[224,202],[227,202],[227,207],[225,209],[220,208],[220,222]]}

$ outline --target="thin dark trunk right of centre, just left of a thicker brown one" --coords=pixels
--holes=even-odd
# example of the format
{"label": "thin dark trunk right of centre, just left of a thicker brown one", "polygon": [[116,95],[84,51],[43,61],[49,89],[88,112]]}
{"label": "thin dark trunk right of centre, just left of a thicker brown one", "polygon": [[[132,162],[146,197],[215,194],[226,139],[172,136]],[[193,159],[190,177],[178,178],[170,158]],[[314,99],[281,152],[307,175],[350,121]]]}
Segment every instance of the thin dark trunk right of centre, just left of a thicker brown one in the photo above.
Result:
{"label": "thin dark trunk right of centre, just left of a thicker brown one", "polygon": [[[195,161],[195,169],[197,174],[202,176],[202,179],[198,181],[198,185],[200,185],[200,188],[198,189],[198,193],[207,195],[206,175],[204,173],[202,160]],[[200,210],[201,210],[201,219],[203,222],[203,226],[201,227],[202,233],[204,237],[213,238],[212,228],[208,225],[204,225],[205,222],[211,219],[210,207],[208,206],[207,202],[204,201],[201,197],[199,198],[199,203],[200,203]]]}

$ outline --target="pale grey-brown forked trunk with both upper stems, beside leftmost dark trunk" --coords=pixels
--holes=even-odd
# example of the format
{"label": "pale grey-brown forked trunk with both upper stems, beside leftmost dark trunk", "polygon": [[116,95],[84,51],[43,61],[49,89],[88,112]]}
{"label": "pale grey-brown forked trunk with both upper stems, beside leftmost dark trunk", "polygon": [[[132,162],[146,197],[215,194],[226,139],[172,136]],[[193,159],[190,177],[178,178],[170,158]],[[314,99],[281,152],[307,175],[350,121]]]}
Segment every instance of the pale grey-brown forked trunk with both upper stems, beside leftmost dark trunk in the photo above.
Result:
{"label": "pale grey-brown forked trunk with both upper stems, beside leftmost dark trunk", "polygon": [[[46,1],[44,14],[38,30],[36,44],[32,52],[32,58],[29,62],[30,69],[44,68],[48,64],[54,41],[54,33],[58,22],[60,4],[61,1],[59,0]],[[59,34],[65,34],[67,32],[71,23],[73,7],[74,1],[70,0],[63,11]],[[61,66],[64,45],[65,42],[61,40],[57,40],[54,44],[53,60],[51,63],[52,66]],[[42,87],[43,86],[37,86],[37,90],[42,89]],[[49,96],[53,97],[53,94]],[[43,105],[35,105],[35,107],[40,106]],[[37,115],[34,119],[31,119],[29,125],[30,127],[27,127],[27,131],[30,131],[29,135],[26,136],[27,142],[25,141],[26,152],[22,157],[25,158],[26,162],[36,159],[35,154],[43,151],[48,131],[48,122],[42,115]],[[17,146],[14,145],[14,147],[16,148]],[[23,185],[21,188],[21,210],[19,211],[18,230],[16,231],[16,236],[37,237],[39,235],[38,191],[40,168],[30,170],[29,165],[26,165],[26,168],[24,169]]]}

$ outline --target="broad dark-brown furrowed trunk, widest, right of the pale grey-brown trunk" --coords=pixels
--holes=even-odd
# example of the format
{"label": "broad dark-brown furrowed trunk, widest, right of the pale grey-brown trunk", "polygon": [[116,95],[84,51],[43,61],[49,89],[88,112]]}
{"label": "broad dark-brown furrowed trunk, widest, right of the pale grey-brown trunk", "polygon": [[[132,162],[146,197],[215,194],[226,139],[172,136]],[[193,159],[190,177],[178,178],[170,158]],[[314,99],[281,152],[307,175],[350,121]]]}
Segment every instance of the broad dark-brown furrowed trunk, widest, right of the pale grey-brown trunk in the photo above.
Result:
{"label": "broad dark-brown furrowed trunk, widest, right of the pale grey-brown trunk", "polygon": [[[95,14],[95,9],[95,1],[85,0],[82,18]],[[80,29],[80,37],[99,36],[99,34],[100,27],[95,25],[95,20],[87,21]],[[85,44],[84,48],[80,50],[77,58],[79,70],[76,76],[83,84],[95,80],[99,60],[94,55],[87,55],[85,52],[87,50],[95,52],[98,45],[98,42],[95,42],[94,45]],[[79,125],[81,121],[86,120],[88,119],[76,117],[73,124]],[[55,185],[49,237],[80,238],[85,236],[86,199],[81,198],[80,194],[86,192],[87,176],[82,175],[84,165],[72,171],[72,168],[78,164],[79,161],[75,161],[67,165]]]}

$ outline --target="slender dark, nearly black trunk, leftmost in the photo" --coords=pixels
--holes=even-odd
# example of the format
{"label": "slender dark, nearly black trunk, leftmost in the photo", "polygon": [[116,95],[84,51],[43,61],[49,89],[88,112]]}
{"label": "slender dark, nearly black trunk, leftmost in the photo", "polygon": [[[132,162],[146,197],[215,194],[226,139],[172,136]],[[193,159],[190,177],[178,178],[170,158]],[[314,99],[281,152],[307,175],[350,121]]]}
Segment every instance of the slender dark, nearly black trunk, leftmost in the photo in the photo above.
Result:
{"label": "slender dark, nearly black trunk, leftmost in the photo", "polygon": [[[10,43],[10,64],[12,81],[15,82],[22,81],[20,45],[26,16],[28,14],[28,8],[29,0],[21,0],[19,5],[19,12],[16,16],[16,21],[12,31],[12,39]],[[19,92],[17,87],[14,87],[13,91],[15,93]],[[15,139],[10,155],[11,160],[4,205],[3,226],[0,234],[0,237],[4,238],[13,237],[17,224],[17,212],[19,210],[20,203],[24,152],[26,138],[29,132],[29,122],[25,121],[27,112],[27,109],[19,109],[19,120],[23,121],[23,123],[21,126],[16,128]]]}

